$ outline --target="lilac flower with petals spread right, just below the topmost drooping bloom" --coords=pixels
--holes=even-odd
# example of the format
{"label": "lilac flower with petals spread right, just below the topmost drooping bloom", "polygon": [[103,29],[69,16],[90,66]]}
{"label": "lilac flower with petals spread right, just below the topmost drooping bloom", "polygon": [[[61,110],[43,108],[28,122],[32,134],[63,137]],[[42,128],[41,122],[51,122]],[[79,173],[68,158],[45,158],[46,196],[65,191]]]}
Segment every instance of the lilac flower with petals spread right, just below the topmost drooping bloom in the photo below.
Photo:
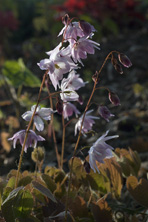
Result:
{"label": "lilac flower with petals spread right, just below the topmost drooping bloom", "polygon": [[94,54],[94,48],[100,49],[99,45],[99,43],[86,38],[80,38],[78,41],[70,44],[69,47],[71,48],[71,56],[74,62],[80,62],[83,65],[81,59],[86,59],[87,53]]}

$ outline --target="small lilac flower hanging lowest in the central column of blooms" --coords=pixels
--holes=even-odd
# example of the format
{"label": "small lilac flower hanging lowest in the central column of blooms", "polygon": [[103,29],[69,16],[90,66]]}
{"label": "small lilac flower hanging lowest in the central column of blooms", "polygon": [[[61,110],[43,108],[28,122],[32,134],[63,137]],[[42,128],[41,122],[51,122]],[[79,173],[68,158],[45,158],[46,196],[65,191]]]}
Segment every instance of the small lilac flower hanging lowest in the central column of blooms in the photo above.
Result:
{"label": "small lilac flower hanging lowest in the central column of blooms", "polygon": [[69,119],[69,116],[72,116],[73,113],[75,113],[75,116],[78,117],[78,114],[80,114],[80,111],[76,108],[75,105],[73,105],[70,102],[63,104],[63,116],[64,119]]}

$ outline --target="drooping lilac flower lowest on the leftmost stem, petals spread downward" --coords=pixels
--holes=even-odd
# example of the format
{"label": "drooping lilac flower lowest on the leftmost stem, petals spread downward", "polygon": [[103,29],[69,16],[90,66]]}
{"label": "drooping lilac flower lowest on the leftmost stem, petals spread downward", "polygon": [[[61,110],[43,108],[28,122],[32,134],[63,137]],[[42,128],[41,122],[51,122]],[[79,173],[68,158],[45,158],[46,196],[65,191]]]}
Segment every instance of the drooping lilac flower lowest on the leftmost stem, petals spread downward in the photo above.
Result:
{"label": "drooping lilac flower lowest on the leftmost stem, petals spread downward", "polygon": [[[21,146],[23,146],[24,139],[26,135],[26,130],[21,130],[13,135],[13,137],[8,140],[13,140],[13,148],[16,148],[17,140],[20,141]],[[24,152],[27,152],[28,147],[36,148],[38,141],[44,141],[45,139],[42,136],[38,136],[33,130],[29,130],[28,137],[26,140]],[[34,145],[33,145],[34,143]]]}

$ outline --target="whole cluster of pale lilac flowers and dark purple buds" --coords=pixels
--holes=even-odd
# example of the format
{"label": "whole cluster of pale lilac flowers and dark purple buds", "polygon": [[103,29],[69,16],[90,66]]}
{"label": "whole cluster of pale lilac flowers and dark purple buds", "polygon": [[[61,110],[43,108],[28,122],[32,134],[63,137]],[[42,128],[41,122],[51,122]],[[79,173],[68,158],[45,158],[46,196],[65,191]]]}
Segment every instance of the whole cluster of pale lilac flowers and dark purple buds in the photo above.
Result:
{"label": "whole cluster of pale lilac flowers and dark purple buds", "polygon": [[[63,24],[64,27],[58,35],[63,36],[62,42],[53,50],[46,52],[48,58],[41,60],[37,65],[41,70],[46,70],[46,75],[48,74],[55,91],[59,90],[56,92],[56,95],[59,95],[56,97],[58,101],[56,109],[59,114],[62,114],[63,117],[68,120],[73,113],[76,117],[80,114],[80,111],[73,102],[78,102],[81,105],[83,104],[78,90],[81,87],[85,87],[87,84],[87,82],[84,82],[80,77],[77,70],[81,65],[84,66],[82,60],[86,59],[88,54],[94,54],[95,49],[100,49],[100,44],[92,40],[96,30],[88,22],[73,22],[68,15],[65,15],[63,17]],[[65,43],[67,45],[66,47],[63,46]],[[118,57],[122,65],[125,67],[131,66],[131,62],[127,56],[119,54]],[[117,67],[113,55],[111,58],[113,65]],[[95,84],[97,84],[98,72],[96,72],[92,78]],[[120,105],[120,100],[114,92],[109,91],[109,100],[115,106]],[[43,131],[43,120],[50,120],[51,115],[55,112],[56,111],[51,108],[41,108],[39,105],[33,105],[30,111],[27,111],[22,115],[22,118],[26,121],[33,121],[36,130]],[[86,136],[86,134],[92,130],[95,120],[99,119],[99,117],[90,115],[92,112],[93,110],[85,109],[84,114],[78,118],[75,125],[75,135],[79,130],[84,136]],[[99,105],[98,113],[106,121],[109,121],[109,118],[114,116],[104,105]],[[103,163],[104,158],[112,157],[112,147],[106,144],[105,141],[118,136],[106,137],[107,133],[108,132],[100,137],[89,150],[89,164],[94,171],[98,171],[96,161]],[[24,144],[26,136],[27,139]],[[27,148],[33,145],[33,141],[34,147],[36,147],[37,142],[43,141],[44,138],[36,135],[34,131],[30,130],[30,128],[27,128],[27,131],[21,130],[14,134],[9,140],[13,140],[14,148],[16,147],[17,140],[19,140],[20,144],[24,146],[24,151],[27,152]]]}

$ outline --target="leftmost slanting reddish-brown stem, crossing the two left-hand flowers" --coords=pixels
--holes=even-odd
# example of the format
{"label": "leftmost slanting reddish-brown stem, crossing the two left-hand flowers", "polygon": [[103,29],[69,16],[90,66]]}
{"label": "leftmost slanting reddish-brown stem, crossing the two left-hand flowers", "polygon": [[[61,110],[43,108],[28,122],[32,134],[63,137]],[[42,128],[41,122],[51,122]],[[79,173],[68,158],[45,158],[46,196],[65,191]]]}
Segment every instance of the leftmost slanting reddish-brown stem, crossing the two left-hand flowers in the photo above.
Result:
{"label": "leftmost slanting reddish-brown stem, crossing the two left-hand flowers", "polygon": [[18,164],[18,170],[17,170],[17,174],[16,174],[15,188],[17,188],[17,185],[18,185],[19,173],[20,173],[20,169],[21,169],[21,164],[22,164],[22,159],[23,159],[23,153],[24,153],[24,149],[25,149],[25,144],[26,144],[26,141],[27,141],[28,133],[29,133],[31,124],[32,124],[32,122],[33,122],[33,118],[34,118],[36,109],[37,109],[37,107],[38,107],[38,105],[39,105],[39,102],[40,102],[40,97],[41,97],[42,88],[43,88],[43,85],[44,85],[44,82],[45,82],[45,79],[46,79],[46,76],[47,76],[48,71],[49,71],[49,70],[47,70],[47,71],[45,72],[44,76],[43,76],[43,80],[42,80],[42,83],[41,83],[41,86],[40,86],[40,90],[39,90],[39,94],[38,94],[37,104],[36,104],[36,106],[35,106],[33,115],[32,115],[32,117],[31,117],[31,120],[30,120],[30,122],[29,122],[29,124],[28,124],[28,127],[27,127],[27,130],[26,130],[26,134],[25,134],[25,138],[24,138],[24,143],[23,143],[23,146],[22,146],[21,154],[20,154],[20,159],[19,159],[19,164]]}

